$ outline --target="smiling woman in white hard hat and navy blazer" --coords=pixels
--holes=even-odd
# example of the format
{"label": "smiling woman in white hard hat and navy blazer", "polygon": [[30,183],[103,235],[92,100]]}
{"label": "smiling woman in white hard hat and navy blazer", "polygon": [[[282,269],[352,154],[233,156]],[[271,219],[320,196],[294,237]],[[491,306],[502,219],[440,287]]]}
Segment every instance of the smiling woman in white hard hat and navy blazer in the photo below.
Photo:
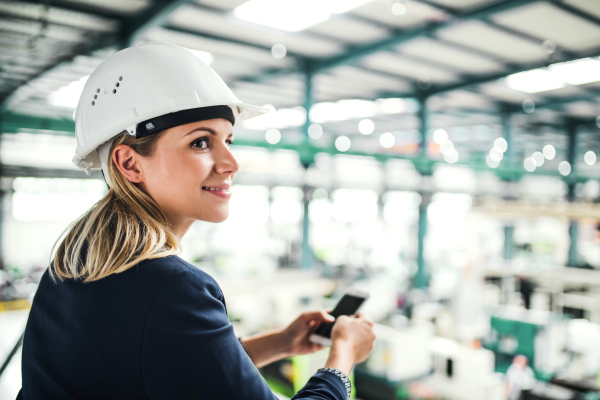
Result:
{"label": "smiling woman in white hard hat and navy blazer", "polygon": [[[177,257],[197,220],[222,222],[238,170],[232,126],[262,114],[189,51],[151,43],[89,77],[74,162],[102,168],[108,194],[58,245],[33,301],[18,399],[274,399],[256,367],[319,349],[331,317],[238,340],[209,275]],[[372,322],[340,317],[325,368],[297,399],[346,399]]]}

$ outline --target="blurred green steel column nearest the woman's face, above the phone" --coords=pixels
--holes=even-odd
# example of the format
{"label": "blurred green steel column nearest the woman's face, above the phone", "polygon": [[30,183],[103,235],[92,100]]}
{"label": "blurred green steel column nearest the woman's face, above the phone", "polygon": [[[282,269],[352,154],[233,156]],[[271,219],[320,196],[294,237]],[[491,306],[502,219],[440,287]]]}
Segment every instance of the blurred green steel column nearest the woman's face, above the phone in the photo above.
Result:
{"label": "blurred green steel column nearest the woman's face, above the phone", "polygon": [[[310,140],[308,136],[308,128],[310,126],[310,108],[313,105],[312,79],[312,66],[308,61],[306,61],[304,71],[304,109],[306,110],[306,122],[304,123],[303,127],[305,145],[309,145]],[[314,160],[302,159],[302,154],[306,153],[302,152],[300,153],[300,155],[304,169],[308,169],[308,167],[310,166],[310,164],[313,163]],[[302,269],[310,269],[313,267],[313,253],[309,243],[310,220],[308,218],[308,207],[310,205],[311,190],[309,187],[304,186],[303,191],[304,197],[302,198],[302,206],[304,212],[302,217],[302,262],[300,267]]]}

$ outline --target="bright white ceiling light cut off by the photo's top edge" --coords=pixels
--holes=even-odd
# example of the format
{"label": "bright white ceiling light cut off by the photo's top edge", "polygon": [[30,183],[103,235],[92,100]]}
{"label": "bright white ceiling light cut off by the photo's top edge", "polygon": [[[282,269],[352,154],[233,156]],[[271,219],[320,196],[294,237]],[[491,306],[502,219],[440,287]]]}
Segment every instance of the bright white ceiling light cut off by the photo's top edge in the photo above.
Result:
{"label": "bright white ceiling light cut off by the photo's top edge", "polygon": [[233,10],[239,19],[298,32],[371,0],[250,0]]}

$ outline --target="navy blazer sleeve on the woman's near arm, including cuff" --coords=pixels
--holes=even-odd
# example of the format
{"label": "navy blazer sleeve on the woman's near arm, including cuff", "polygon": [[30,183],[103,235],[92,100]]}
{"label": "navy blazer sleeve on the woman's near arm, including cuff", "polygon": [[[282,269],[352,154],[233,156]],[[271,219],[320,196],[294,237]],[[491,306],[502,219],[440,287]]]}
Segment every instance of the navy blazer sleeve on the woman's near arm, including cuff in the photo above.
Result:
{"label": "navy blazer sleeve on the woman's near arm, including cuff", "polygon": [[[219,286],[200,270],[177,274],[154,300],[142,370],[151,400],[276,399],[235,336]],[[346,400],[346,388],[322,371],[294,399]]]}

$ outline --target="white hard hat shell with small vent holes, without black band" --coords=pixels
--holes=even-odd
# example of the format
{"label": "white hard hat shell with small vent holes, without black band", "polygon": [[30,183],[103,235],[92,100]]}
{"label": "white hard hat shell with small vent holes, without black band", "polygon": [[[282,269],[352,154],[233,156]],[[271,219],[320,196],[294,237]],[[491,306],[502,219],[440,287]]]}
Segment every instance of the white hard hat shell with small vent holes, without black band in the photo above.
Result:
{"label": "white hard hat shell with small vent holes, without black band", "polygon": [[146,43],[115,53],[90,75],[77,110],[73,163],[101,168],[96,149],[138,123],[171,112],[227,105],[236,122],[267,112],[242,103],[208,65],[187,49]]}

